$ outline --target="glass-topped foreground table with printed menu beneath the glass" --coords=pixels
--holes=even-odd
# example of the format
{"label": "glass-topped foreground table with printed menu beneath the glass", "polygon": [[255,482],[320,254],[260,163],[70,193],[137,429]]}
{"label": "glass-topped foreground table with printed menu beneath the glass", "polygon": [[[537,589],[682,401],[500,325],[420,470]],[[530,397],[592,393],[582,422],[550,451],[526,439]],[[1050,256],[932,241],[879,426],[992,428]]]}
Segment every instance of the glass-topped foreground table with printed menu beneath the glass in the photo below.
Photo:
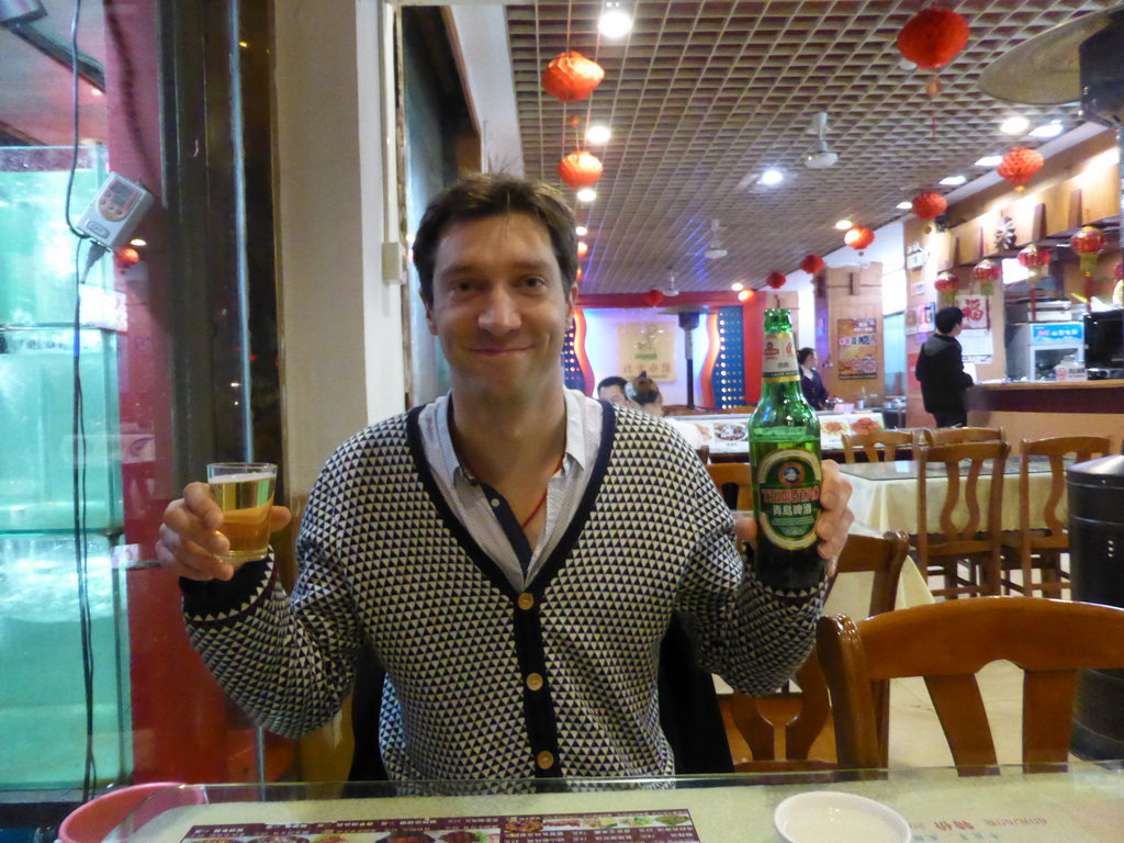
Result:
{"label": "glass-topped foreground table with printed menu beneath the glass", "polygon": [[1120,764],[1081,762],[1064,772],[1028,774],[1018,767],[972,778],[928,768],[665,779],[207,785],[149,797],[106,843],[771,843],[777,840],[777,806],[809,790],[883,803],[905,817],[915,841],[932,843],[1118,843],[1124,828]]}

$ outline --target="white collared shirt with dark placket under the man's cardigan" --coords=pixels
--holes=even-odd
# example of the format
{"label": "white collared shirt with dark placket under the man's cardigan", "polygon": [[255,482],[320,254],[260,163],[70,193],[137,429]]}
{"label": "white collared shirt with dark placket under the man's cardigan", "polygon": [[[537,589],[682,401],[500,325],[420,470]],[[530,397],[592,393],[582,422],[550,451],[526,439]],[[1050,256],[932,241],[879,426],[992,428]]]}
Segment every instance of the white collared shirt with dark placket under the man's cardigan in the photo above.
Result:
{"label": "white collared shirt with dark placket under the man's cardigan", "polygon": [[[461,464],[448,432],[448,396],[422,409],[418,425],[426,461],[453,514],[468,528],[480,547],[496,561],[508,582],[517,589],[535,578],[578,511],[601,442],[601,404],[574,389],[565,398],[565,454],[562,468],[546,486],[546,519],[532,549],[527,573],[504,529],[496,510],[507,502],[486,495],[472,474]],[[497,496],[498,497],[498,496]]]}

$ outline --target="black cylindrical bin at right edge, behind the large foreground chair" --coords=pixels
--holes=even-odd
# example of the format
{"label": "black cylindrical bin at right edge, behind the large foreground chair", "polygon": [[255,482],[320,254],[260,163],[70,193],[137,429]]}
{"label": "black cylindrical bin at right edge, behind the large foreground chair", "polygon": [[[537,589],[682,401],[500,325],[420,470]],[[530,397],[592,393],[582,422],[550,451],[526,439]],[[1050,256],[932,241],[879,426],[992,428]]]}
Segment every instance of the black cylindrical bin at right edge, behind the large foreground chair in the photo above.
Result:
{"label": "black cylindrical bin at right edge, behind the large foreground chair", "polygon": [[[1077,463],[1066,486],[1072,598],[1124,607],[1124,456]],[[1124,670],[1081,671],[1070,746],[1080,758],[1124,758]]]}

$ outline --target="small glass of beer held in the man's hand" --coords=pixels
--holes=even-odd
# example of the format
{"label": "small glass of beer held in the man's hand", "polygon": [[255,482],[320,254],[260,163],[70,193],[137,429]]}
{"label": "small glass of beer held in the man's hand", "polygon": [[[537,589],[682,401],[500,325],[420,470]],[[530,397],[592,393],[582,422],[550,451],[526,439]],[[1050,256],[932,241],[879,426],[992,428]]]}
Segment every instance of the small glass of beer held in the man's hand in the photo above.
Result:
{"label": "small glass of beer held in the man's hand", "polygon": [[270,545],[270,508],[278,466],[269,462],[215,462],[207,466],[211,497],[223,510],[223,535],[230,550],[219,559],[265,559]]}

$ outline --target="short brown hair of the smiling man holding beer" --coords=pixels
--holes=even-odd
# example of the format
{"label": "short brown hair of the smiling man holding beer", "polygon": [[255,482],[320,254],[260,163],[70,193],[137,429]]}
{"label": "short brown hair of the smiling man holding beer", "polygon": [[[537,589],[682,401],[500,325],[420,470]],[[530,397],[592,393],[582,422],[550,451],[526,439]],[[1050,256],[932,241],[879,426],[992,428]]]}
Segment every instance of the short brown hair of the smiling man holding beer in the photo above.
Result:
{"label": "short brown hair of the smiling man holding beer", "polygon": [[561,192],[542,182],[513,175],[478,173],[434,197],[414,237],[414,265],[422,282],[422,300],[433,307],[433,273],[437,246],[448,226],[469,219],[526,214],[546,228],[562,274],[566,299],[578,277],[578,235],[573,212]]}

